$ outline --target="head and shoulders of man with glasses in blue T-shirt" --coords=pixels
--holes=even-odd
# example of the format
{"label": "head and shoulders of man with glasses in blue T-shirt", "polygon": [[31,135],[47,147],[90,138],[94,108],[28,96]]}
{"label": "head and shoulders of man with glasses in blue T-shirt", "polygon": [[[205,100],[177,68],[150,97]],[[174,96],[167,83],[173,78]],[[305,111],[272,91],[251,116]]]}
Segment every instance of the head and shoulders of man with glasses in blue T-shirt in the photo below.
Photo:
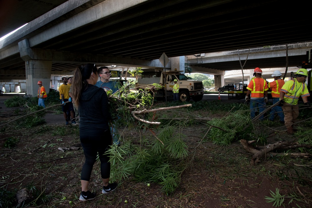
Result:
{"label": "head and shoulders of man with glasses in blue T-shirt", "polygon": [[106,93],[109,90],[112,90],[112,94],[115,93],[119,88],[117,82],[109,80],[111,77],[111,72],[109,71],[108,67],[102,66],[97,71],[100,76],[100,80],[95,86],[103,88]]}

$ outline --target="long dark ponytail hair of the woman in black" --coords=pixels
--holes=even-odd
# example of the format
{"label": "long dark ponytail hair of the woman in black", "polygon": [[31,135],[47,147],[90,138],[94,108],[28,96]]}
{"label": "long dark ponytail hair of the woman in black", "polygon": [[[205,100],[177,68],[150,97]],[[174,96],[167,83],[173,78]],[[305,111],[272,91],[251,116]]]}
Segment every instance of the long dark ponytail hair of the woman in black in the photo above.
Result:
{"label": "long dark ponytail hair of the woman in black", "polygon": [[79,106],[82,91],[88,88],[87,79],[90,78],[92,73],[97,73],[97,66],[95,64],[81,65],[75,70],[71,88],[73,101],[77,107]]}

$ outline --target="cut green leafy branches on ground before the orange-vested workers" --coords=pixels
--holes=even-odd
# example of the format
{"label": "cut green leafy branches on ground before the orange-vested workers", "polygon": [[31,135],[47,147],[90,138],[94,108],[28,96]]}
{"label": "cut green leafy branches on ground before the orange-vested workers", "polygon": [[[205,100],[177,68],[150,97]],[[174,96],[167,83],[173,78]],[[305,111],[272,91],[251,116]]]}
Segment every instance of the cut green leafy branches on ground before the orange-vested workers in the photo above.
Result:
{"label": "cut green leafy branches on ground before the orange-vested workers", "polygon": [[[233,141],[244,138],[246,132],[250,132],[253,128],[249,114],[247,111],[242,110],[230,113],[220,119],[214,118],[208,124],[222,128],[222,130],[212,128],[209,133],[209,137],[213,143],[221,146],[230,145]],[[247,126],[249,128],[245,129]]]}

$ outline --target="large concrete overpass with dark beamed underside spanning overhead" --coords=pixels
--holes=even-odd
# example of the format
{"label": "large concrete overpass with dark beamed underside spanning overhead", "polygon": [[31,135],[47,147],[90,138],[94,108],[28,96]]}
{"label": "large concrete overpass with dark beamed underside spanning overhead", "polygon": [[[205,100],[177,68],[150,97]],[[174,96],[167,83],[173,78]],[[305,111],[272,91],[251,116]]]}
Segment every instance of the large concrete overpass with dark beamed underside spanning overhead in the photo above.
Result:
{"label": "large concrete overpass with dark beamed underside spanning overhead", "polygon": [[[0,41],[0,70],[25,76],[27,91],[35,94],[30,83],[87,62],[158,68],[163,52],[178,57],[311,41],[303,29],[311,21],[301,13],[285,15],[301,11],[305,3],[69,0]],[[220,70],[207,67],[215,74]]]}

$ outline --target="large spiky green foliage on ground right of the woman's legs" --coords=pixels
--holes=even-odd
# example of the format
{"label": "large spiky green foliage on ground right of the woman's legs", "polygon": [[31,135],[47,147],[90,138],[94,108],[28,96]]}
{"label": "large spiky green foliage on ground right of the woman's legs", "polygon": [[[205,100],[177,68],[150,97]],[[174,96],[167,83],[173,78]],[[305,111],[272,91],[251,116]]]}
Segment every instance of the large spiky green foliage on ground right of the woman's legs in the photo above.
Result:
{"label": "large spiky green foliage on ground right of the woman's legs", "polygon": [[[180,131],[181,132],[181,131]],[[166,194],[179,185],[183,163],[188,155],[183,134],[174,133],[174,127],[166,126],[157,138],[141,138],[140,145],[128,141],[121,146],[112,145],[109,150],[111,180],[123,180],[132,176],[136,181],[158,183]]]}

